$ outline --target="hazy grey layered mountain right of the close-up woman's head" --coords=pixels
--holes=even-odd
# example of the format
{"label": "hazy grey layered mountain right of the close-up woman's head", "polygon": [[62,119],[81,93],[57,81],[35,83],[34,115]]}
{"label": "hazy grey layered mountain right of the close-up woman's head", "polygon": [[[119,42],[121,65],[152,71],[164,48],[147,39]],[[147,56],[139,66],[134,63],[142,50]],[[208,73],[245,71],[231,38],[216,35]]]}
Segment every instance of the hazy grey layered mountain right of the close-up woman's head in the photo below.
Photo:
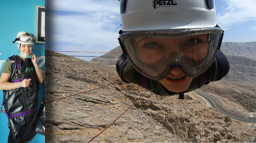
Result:
{"label": "hazy grey layered mountain right of the close-up woman's head", "polygon": [[230,71],[224,78],[256,83],[256,42],[223,42],[221,49],[228,55]]}

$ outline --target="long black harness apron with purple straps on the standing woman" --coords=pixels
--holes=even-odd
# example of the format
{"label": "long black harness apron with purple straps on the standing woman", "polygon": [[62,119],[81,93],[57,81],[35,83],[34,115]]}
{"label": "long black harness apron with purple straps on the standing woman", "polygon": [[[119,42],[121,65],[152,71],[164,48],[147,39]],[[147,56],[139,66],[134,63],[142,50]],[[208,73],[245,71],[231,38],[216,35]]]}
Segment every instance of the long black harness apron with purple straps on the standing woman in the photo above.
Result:
{"label": "long black harness apron with purple straps on the standing woman", "polygon": [[28,78],[32,79],[31,84],[24,88],[17,88],[6,91],[5,113],[8,117],[8,125],[10,126],[16,143],[26,143],[32,140],[36,134],[36,116],[37,116],[37,92],[39,90],[39,82],[36,76],[35,68],[31,59],[23,61],[15,56],[17,62],[17,71],[10,82],[21,82],[26,77],[26,68],[32,68],[32,73],[28,74]]}

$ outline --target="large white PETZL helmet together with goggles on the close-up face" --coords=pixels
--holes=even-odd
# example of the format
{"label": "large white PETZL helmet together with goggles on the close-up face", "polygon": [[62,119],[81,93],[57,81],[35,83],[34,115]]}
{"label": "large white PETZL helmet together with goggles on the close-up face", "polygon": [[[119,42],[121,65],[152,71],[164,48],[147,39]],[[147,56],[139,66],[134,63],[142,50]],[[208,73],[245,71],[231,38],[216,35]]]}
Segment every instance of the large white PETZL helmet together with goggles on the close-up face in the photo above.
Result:
{"label": "large white PETZL helmet together with goggles on the close-up face", "polygon": [[133,67],[152,80],[175,68],[197,77],[212,64],[224,31],[213,0],[122,0],[119,42]]}

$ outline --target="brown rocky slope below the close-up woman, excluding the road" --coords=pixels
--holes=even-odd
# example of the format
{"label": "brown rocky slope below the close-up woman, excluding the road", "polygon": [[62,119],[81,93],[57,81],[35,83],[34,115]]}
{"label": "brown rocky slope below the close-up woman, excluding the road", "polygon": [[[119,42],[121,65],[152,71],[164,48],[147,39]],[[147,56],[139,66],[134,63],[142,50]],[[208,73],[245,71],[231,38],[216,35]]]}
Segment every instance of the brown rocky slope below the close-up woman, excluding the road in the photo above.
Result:
{"label": "brown rocky slope below the close-up woman, excluding the road", "polygon": [[[254,125],[226,117],[195,92],[184,100],[159,96],[122,82],[113,67],[58,55],[45,51],[45,142],[256,142]],[[255,107],[239,102],[255,105],[254,84],[224,79],[203,87],[227,110],[254,116]]]}

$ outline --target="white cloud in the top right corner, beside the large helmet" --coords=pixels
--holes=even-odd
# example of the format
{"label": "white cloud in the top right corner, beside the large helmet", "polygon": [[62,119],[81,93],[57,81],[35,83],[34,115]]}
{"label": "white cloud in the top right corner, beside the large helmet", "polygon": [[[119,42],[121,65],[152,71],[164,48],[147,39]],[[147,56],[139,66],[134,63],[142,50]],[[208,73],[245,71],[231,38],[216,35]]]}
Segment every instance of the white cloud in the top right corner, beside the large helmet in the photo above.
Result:
{"label": "white cloud in the top right corner, beside the large helmet", "polygon": [[232,25],[242,24],[247,21],[256,20],[255,0],[224,0],[227,7],[222,7],[217,14],[217,23],[224,30]]}

